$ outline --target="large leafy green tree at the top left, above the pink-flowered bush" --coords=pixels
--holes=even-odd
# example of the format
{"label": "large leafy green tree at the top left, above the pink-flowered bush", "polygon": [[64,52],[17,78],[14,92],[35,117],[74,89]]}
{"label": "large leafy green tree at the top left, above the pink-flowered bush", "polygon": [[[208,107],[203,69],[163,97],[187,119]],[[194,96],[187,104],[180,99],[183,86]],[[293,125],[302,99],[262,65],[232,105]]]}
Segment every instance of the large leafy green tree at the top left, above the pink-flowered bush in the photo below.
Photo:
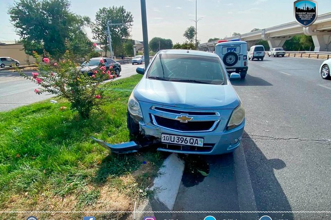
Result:
{"label": "large leafy green tree at the top left, above the pink-flowered bush", "polygon": [[9,8],[8,14],[27,54],[45,51],[59,59],[71,47],[83,46],[83,50],[72,51],[82,56],[92,50],[92,42],[83,29],[90,18],[75,15],[69,7],[68,0],[19,0]]}

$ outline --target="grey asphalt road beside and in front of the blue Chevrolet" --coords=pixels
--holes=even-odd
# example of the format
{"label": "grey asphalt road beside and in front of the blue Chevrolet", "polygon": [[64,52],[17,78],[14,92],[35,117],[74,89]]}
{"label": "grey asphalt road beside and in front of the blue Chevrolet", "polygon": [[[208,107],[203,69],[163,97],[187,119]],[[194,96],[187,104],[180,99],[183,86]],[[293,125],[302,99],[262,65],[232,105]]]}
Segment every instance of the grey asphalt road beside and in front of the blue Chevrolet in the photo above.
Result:
{"label": "grey asphalt road beside and in front of the blue Chevrolet", "polygon": [[[187,184],[189,172],[184,174],[175,211],[254,211],[240,208],[253,196],[239,181],[249,180],[254,204],[248,207],[256,207],[258,217],[331,219],[330,213],[295,213],[331,207],[331,81],[318,73],[322,62],[289,57],[249,62],[246,79],[232,83],[246,110],[240,150],[248,178],[239,180],[246,170],[236,169],[245,166],[233,154],[200,157],[198,164],[208,164],[209,175],[202,180],[191,175],[194,184]],[[252,219],[245,213],[175,213],[170,219],[203,220],[207,215]]]}

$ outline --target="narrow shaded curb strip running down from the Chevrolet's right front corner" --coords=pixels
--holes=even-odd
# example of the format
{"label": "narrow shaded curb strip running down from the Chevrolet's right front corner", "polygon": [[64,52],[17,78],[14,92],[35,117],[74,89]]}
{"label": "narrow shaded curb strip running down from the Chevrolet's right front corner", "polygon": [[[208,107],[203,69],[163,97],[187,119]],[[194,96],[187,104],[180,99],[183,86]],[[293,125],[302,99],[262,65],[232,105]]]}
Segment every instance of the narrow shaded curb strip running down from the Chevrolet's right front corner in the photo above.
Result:
{"label": "narrow shaded curb strip running down from the Chevrolet's right front corner", "polygon": [[[233,153],[240,211],[257,211],[254,191],[249,175],[245,153],[240,145]],[[240,213],[243,220],[258,219],[257,213]]]}

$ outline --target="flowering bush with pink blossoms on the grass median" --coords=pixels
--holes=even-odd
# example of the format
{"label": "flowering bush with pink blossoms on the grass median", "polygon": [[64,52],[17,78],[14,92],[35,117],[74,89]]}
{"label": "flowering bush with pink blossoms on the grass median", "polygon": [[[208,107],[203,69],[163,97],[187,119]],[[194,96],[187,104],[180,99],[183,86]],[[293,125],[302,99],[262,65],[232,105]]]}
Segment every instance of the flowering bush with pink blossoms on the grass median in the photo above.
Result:
{"label": "flowering bush with pink blossoms on the grass median", "polygon": [[[33,54],[38,61],[37,52]],[[52,62],[48,57],[44,57],[43,62],[37,62],[38,72],[33,72],[32,77],[23,72],[20,74],[40,86],[34,90],[36,94],[47,92],[65,98],[81,118],[89,118],[92,109],[97,108],[104,98],[101,83],[114,79],[116,74],[112,68],[107,70],[103,60],[100,60],[101,66],[89,76],[86,72],[82,73],[73,60],[70,52],[66,51],[61,62]]]}

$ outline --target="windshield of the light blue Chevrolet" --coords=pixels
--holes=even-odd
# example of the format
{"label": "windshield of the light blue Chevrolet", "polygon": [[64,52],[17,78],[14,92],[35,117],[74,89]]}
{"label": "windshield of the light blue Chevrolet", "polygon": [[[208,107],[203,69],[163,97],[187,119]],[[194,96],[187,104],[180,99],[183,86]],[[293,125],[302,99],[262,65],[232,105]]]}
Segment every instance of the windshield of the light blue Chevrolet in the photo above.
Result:
{"label": "windshield of the light blue Chevrolet", "polygon": [[154,80],[221,85],[225,74],[217,57],[158,54],[147,77]]}

